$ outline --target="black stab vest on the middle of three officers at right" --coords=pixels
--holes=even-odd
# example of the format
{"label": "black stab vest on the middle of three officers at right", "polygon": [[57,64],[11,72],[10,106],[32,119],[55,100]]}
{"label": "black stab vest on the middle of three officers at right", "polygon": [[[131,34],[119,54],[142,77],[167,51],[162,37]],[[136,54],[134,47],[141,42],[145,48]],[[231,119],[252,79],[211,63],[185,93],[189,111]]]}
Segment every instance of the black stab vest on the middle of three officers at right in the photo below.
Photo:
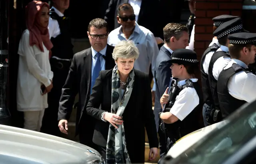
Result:
{"label": "black stab vest on the middle of three officers at right", "polygon": [[210,85],[210,91],[212,94],[214,109],[220,109],[220,105],[219,105],[219,99],[218,99],[218,93],[217,93],[217,80],[214,78],[214,76],[212,74],[212,69],[213,69],[214,63],[220,57],[230,57],[230,55],[228,52],[224,52],[224,51],[215,52],[212,55],[212,58],[209,63],[209,69],[208,69],[208,81],[209,81],[209,85]]}

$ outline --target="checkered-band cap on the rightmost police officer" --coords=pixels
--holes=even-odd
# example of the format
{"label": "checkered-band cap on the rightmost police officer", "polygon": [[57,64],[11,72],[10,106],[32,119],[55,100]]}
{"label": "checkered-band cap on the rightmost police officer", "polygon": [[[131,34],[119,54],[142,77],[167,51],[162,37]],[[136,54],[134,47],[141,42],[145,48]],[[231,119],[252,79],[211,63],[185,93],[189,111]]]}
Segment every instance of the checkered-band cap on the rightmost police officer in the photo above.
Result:
{"label": "checkered-band cap on the rightmost police officer", "polygon": [[253,44],[256,45],[256,33],[239,32],[228,36],[230,44]]}

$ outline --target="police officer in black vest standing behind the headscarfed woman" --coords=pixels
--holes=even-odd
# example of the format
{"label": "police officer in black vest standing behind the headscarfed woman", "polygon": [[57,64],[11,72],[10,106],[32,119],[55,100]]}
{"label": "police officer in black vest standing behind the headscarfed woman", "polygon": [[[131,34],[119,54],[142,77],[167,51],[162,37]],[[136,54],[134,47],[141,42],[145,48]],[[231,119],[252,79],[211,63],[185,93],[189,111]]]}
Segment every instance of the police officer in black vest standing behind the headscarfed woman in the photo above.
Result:
{"label": "police officer in black vest standing behind the headscarfed woman", "polygon": [[60,135],[58,128],[58,107],[61,90],[68,76],[71,59],[73,58],[73,45],[69,30],[69,19],[64,16],[64,11],[69,7],[69,0],[52,0],[50,10],[49,34],[53,44],[51,69],[54,73],[52,80],[53,89],[48,94],[48,108],[44,112],[41,132]]}

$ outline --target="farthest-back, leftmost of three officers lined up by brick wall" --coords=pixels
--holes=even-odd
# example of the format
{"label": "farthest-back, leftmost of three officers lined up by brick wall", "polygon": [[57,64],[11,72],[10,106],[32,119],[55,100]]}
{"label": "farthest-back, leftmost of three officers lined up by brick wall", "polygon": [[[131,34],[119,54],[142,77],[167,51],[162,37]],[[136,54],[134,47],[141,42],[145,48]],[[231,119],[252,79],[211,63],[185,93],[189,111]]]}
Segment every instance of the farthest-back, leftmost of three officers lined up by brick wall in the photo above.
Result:
{"label": "farthest-back, leftmost of three officers lined up by brick wall", "polygon": [[[220,15],[214,17],[212,20],[214,21],[213,30],[215,31],[221,24],[227,22],[229,20],[238,18],[238,16],[231,16],[231,15]],[[220,43],[216,36],[212,39],[209,47],[204,51],[202,58],[201,58],[201,81],[202,81],[202,91],[204,94],[204,106],[203,106],[203,118],[204,118],[204,126],[208,126],[209,123],[207,122],[208,117],[206,117],[211,109],[213,104],[212,94],[210,91],[209,81],[208,81],[208,68],[210,59],[212,55],[216,52],[216,50],[220,48]]]}

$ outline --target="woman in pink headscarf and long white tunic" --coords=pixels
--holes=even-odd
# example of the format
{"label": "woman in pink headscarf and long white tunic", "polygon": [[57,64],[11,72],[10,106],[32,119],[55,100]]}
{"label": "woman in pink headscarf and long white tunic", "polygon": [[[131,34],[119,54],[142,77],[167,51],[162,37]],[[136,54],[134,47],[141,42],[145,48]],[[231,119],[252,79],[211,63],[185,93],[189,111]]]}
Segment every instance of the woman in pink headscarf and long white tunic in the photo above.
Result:
{"label": "woman in pink headscarf and long white tunic", "polygon": [[32,1],[26,6],[26,27],[18,48],[17,110],[24,112],[24,128],[40,131],[47,93],[52,89],[49,63],[52,43],[48,32],[49,5]]}

